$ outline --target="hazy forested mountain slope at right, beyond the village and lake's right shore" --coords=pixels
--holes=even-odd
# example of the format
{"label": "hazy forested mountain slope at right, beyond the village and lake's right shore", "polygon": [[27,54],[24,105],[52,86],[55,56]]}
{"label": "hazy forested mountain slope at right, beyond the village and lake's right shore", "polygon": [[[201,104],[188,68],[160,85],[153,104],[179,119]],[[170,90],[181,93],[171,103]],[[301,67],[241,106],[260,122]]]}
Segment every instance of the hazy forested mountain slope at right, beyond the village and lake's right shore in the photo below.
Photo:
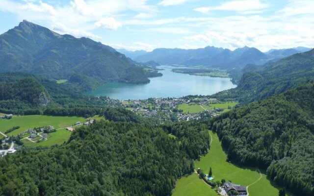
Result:
{"label": "hazy forested mountain slope at right, beyond the village and lake's right shore", "polygon": [[249,103],[306,84],[313,77],[314,49],[267,63],[262,67],[254,68],[250,65],[235,89],[219,92],[212,97]]}

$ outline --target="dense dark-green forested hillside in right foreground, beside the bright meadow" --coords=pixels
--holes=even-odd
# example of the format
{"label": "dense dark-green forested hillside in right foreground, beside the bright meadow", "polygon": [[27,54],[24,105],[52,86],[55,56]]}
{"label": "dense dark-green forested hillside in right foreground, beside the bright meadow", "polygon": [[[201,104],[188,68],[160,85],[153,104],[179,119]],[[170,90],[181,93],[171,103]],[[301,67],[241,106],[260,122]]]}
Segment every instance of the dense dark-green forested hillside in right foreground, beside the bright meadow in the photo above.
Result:
{"label": "dense dark-green forested hillside in right foreground, beside the bright meadow", "polygon": [[314,195],[314,82],[210,120],[228,158],[267,169],[297,195]]}

